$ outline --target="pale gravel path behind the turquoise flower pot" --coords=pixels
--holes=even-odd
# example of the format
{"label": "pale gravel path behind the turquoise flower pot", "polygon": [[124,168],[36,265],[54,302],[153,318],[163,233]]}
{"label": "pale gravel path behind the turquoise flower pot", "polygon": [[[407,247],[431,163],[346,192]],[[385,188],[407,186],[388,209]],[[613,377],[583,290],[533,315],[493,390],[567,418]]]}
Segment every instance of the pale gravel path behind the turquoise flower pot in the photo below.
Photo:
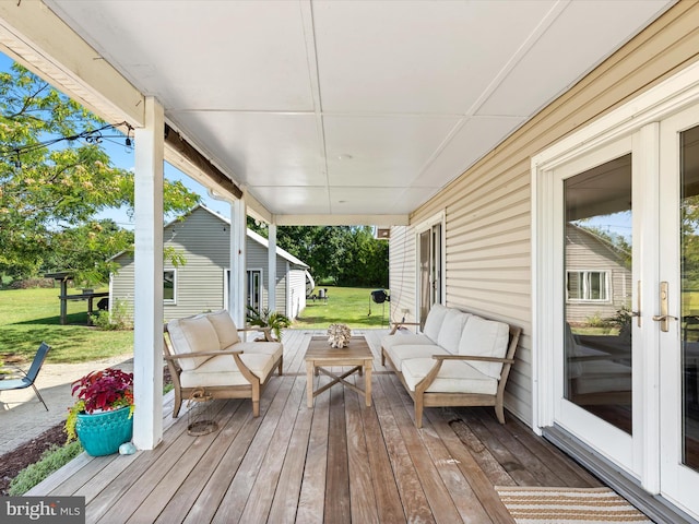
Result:
{"label": "pale gravel path behind the turquoise flower pot", "polygon": [[133,356],[122,355],[83,364],[45,364],[36,379],[48,412],[32,388],[0,392],[0,455],[36,438],[68,416],[74,398],[71,382],[108,367],[133,371]]}

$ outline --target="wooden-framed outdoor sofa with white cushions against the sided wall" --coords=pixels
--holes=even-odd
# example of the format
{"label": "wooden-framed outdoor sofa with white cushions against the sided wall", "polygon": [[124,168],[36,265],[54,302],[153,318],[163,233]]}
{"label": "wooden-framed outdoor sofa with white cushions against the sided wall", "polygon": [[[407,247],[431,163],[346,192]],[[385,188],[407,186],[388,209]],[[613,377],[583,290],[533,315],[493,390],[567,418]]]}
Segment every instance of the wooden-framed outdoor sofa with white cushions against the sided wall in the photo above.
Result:
{"label": "wooden-framed outdoor sofa with white cushions against the sided wall", "polygon": [[436,406],[495,406],[505,424],[503,393],[520,327],[435,305],[423,332],[404,334],[394,323],[381,338],[381,364],[388,361],[415,404],[415,425]]}

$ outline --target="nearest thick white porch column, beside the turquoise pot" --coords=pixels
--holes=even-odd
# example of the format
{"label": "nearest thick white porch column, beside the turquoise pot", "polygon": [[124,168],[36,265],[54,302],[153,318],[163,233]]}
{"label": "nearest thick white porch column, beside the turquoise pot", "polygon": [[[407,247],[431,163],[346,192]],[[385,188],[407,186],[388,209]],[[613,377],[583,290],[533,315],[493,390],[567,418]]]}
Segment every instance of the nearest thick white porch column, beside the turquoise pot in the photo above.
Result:
{"label": "nearest thick white porch column, beside the turquoise pot", "polygon": [[145,127],[135,130],[133,290],[133,443],[163,439],[163,107],[145,98]]}

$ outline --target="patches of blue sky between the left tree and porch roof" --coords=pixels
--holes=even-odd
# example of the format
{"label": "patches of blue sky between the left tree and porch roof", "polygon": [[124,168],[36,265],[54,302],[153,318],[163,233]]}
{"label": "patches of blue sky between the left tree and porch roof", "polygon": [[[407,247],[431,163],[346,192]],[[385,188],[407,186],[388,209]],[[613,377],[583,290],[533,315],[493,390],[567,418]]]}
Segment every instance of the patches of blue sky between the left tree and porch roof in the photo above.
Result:
{"label": "patches of blue sky between the left tree and porch roof", "polygon": [[[9,71],[12,66],[13,60],[9,58],[7,55],[0,52],[0,71]],[[115,122],[116,123],[116,122]],[[134,155],[135,150],[133,147],[127,147],[125,142],[117,139],[109,139],[103,142],[103,147],[109,155],[111,163],[116,167],[120,167],[122,169],[133,170],[134,164]],[[209,196],[206,188],[204,188],[199,182],[194,181],[182,171],[177,169],[176,167],[169,165],[167,162],[164,165],[165,178],[171,181],[181,181],[190,191],[199,194],[201,196],[201,203],[204,204],[210,210],[215,211],[216,213],[223,216],[230,215],[230,204],[228,202],[222,202]],[[126,210],[106,210],[103,213],[97,215],[98,219],[102,218],[111,218],[119,226],[133,229],[134,224],[133,221],[129,219],[129,216]],[[171,218],[171,217],[170,217]]]}

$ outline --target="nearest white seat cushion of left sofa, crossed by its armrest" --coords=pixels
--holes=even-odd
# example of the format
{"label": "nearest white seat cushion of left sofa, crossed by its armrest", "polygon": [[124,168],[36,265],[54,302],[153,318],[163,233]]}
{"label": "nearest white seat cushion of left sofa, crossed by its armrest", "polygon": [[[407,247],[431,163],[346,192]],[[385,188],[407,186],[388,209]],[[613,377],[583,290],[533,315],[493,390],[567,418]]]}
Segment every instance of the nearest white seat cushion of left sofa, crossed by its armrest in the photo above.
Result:
{"label": "nearest white seat cushion of left sofa, crossed by its armrest", "polygon": [[[274,359],[263,354],[242,354],[240,355],[240,360],[261,382],[264,381],[274,365]],[[248,385],[250,383],[236,366],[233,355],[218,355],[196,369],[182,370],[179,380],[182,388]]]}

